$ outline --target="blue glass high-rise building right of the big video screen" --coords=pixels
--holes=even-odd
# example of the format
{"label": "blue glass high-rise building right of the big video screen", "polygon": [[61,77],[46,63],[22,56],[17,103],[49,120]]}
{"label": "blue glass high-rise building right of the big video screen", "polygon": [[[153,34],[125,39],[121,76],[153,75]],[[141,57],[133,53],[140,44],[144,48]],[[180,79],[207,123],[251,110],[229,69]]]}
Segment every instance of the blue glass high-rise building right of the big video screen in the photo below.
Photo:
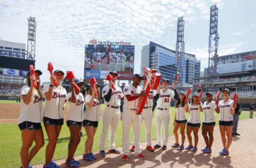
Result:
{"label": "blue glass high-rise building right of the big video screen", "polygon": [[[161,72],[162,78],[174,81],[175,69],[175,51],[150,41],[149,45],[141,49],[141,74],[144,74],[143,68],[156,69]],[[185,60],[182,71],[182,83],[192,84],[192,78],[200,77],[201,62],[193,54],[185,54]]]}

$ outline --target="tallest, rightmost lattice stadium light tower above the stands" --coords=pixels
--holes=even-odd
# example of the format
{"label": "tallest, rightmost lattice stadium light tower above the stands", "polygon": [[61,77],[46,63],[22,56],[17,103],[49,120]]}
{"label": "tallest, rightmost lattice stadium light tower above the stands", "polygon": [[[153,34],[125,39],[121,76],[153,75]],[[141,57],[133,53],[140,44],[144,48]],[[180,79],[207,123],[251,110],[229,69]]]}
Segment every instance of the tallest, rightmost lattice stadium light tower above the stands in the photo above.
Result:
{"label": "tallest, rightmost lattice stadium light tower above the stands", "polygon": [[218,33],[218,7],[212,5],[210,8],[210,35],[209,35],[209,61],[208,61],[208,75],[217,74],[218,64],[218,45],[219,45],[219,33]]}

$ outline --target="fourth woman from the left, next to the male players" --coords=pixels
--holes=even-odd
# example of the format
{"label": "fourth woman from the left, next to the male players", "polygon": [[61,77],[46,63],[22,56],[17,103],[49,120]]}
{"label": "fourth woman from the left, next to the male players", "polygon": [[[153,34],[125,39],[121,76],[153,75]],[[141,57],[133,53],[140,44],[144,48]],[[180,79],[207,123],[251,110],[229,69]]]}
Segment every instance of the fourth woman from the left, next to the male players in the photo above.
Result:
{"label": "fourth woman from the left, next to the male players", "polygon": [[[83,158],[86,161],[93,161],[96,157],[92,153],[93,138],[100,120],[100,87],[95,83],[95,89],[92,86],[88,87],[85,97],[86,111],[84,112],[83,125],[87,135],[85,141],[85,152]],[[95,94],[98,96],[95,96]]]}

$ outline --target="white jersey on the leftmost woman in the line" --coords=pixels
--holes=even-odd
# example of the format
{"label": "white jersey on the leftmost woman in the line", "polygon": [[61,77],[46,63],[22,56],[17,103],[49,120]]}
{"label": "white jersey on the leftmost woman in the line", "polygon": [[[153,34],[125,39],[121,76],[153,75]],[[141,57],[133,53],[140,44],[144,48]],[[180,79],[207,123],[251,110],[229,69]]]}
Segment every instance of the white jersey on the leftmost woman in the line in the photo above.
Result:
{"label": "white jersey on the leftmost woman in the line", "polygon": [[[30,87],[28,85],[23,86],[20,89],[20,95],[27,95],[29,92]],[[32,92],[31,101],[28,105],[26,105],[23,102],[23,99],[21,97],[20,102],[20,116],[18,124],[24,122],[24,121],[30,121],[30,122],[41,122],[41,110],[42,110],[42,101],[43,98],[40,97],[37,90],[34,88]]]}

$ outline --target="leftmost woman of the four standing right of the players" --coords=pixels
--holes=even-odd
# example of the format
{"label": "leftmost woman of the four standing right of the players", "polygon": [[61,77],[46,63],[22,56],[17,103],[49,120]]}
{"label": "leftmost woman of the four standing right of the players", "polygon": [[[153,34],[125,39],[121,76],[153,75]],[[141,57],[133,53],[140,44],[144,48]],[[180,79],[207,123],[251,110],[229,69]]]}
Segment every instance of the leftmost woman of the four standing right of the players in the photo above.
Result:
{"label": "leftmost woman of the four standing right of the players", "polygon": [[[188,103],[185,103],[186,95],[184,91],[180,91],[179,98],[175,103],[175,116],[173,121],[173,134],[175,137],[175,143],[171,146],[177,148],[177,150],[184,149],[185,142],[185,128],[187,123],[186,113],[189,111]],[[180,128],[181,145],[179,145],[178,129]]]}

